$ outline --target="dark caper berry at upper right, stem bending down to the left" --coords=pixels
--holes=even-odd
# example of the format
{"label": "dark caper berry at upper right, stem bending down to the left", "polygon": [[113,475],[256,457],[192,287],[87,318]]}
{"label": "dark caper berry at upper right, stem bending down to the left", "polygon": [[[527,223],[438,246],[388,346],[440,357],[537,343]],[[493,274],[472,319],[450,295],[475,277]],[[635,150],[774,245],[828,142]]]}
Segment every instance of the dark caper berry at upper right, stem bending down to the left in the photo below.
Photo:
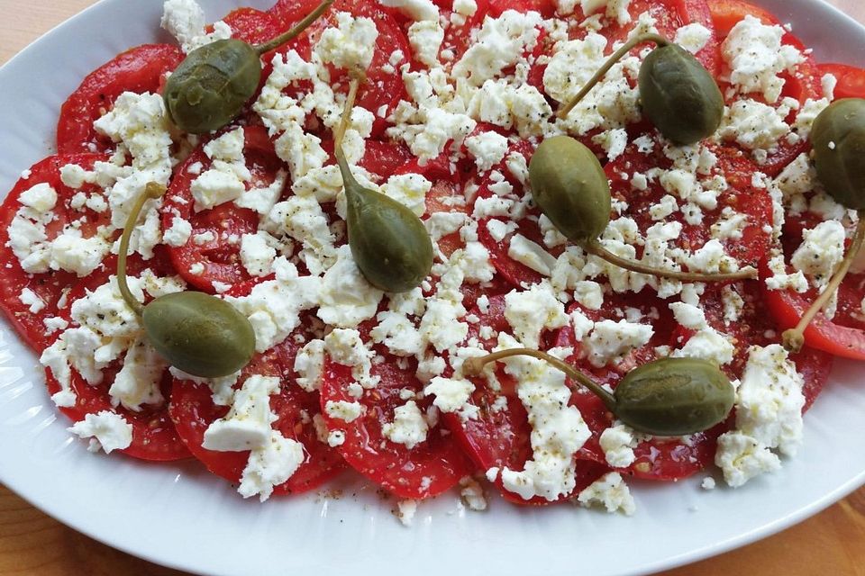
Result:
{"label": "dark caper berry at upper right, stem bending down to the left", "polygon": [[640,66],[642,112],[660,133],[678,145],[693,144],[715,133],[724,117],[724,96],[706,67],[686,49],[658,34],[642,34],[615,51],[558,115],[566,118],[613,65],[635,46],[657,45]]}

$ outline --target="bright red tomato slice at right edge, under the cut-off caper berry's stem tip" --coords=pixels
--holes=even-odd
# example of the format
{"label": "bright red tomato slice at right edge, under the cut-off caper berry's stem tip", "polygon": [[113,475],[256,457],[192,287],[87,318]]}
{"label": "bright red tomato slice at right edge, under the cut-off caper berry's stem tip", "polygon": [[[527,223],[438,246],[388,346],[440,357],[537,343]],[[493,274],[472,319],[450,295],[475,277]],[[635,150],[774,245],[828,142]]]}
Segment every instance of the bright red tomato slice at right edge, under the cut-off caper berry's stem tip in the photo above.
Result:
{"label": "bright red tomato slice at right edge, under the cut-off caper berry's stem tip", "polygon": [[[769,266],[764,261],[760,265],[760,278],[765,280],[769,275],[771,275]],[[817,313],[805,329],[807,346],[823,350],[833,356],[865,360],[865,326],[855,320],[854,315],[856,302],[853,294],[859,292],[861,285],[861,277],[857,276],[853,275],[843,283],[846,285],[843,291],[845,295],[843,299],[839,297],[839,302],[844,302],[845,305],[841,309],[842,316],[839,322],[827,320],[823,313]],[[809,297],[807,294],[799,294],[791,290],[769,290],[765,283],[760,284],[769,313],[778,322],[780,331],[796,327],[814,300],[813,294]],[[851,326],[845,326],[842,322],[849,322]]]}

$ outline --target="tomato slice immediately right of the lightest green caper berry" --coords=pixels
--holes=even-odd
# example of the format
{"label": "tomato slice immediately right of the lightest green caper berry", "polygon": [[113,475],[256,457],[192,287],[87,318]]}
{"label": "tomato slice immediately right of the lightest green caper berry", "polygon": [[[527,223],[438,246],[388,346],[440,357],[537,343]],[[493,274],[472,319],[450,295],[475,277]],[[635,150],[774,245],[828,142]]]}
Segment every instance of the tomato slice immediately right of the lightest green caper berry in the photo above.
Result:
{"label": "tomato slice immediately right of the lightest green caper berry", "polygon": [[[633,189],[631,177],[634,174],[645,174],[652,167],[669,168],[671,161],[665,157],[660,144],[655,145],[650,154],[642,154],[633,147],[625,150],[621,157],[616,158],[605,167],[610,179],[611,192],[614,197],[628,202],[628,210],[624,214],[637,222],[640,231],[646,230],[657,223],[651,218],[650,210],[667,194],[659,182],[650,182],[645,191]],[[751,185],[751,175],[758,168],[736,148],[709,148],[718,157],[717,165],[712,175],[723,175],[729,184],[728,188],[718,195],[718,205],[715,210],[703,211],[701,224],[688,224],[683,220],[681,211],[674,212],[665,220],[675,219],[682,224],[679,238],[670,240],[670,247],[682,247],[687,250],[697,250],[712,239],[711,227],[715,222],[724,220],[722,211],[730,207],[738,213],[747,216],[747,224],[742,228],[742,238],[722,238],[726,253],[736,258],[741,266],[756,266],[760,258],[769,249],[770,234],[763,226],[772,220],[772,201],[769,193],[762,188]],[[681,208],[681,206],[680,206]]]}

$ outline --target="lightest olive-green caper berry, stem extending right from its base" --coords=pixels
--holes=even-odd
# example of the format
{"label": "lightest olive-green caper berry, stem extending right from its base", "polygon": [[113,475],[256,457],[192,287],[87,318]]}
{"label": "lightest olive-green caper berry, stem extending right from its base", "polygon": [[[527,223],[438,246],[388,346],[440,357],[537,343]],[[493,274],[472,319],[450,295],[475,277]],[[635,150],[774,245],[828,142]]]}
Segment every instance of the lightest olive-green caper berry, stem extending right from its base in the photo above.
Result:
{"label": "lightest olive-green caper berry, stem extending right from its base", "polygon": [[752,268],[730,274],[664,270],[616,256],[601,246],[597,238],[610,222],[610,183],[595,154],[577,139],[545,139],[529,162],[529,181],[534,202],[565,238],[615,266],[682,282],[729,282],[756,274]]}

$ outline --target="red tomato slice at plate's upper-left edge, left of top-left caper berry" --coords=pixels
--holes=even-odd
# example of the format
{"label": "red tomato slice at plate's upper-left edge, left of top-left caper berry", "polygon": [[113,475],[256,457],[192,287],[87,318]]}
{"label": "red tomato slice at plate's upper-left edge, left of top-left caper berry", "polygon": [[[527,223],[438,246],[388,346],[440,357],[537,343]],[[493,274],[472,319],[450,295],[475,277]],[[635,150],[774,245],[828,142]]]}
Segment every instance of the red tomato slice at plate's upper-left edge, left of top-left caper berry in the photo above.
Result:
{"label": "red tomato slice at plate's upper-left edge, left of top-left caper berry", "polygon": [[60,108],[57,150],[60,154],[104,152],[111,139],[96,133],[93,122],[108,112],[124,92],[157,92],[184,54],[169,44],[129,49],[91,72]]}

